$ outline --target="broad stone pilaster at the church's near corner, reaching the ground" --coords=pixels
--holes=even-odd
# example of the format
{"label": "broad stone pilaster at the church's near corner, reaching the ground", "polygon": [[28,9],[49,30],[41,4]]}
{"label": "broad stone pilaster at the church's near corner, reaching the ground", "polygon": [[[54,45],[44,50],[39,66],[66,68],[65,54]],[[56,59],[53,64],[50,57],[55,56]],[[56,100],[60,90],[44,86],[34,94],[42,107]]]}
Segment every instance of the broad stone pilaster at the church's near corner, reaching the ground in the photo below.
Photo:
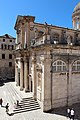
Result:
{"label": "broad stone pilaster at the church's near corner, reaching the ground", "polygon": [[42,110],[51,109],[51,57],[42,59]]}

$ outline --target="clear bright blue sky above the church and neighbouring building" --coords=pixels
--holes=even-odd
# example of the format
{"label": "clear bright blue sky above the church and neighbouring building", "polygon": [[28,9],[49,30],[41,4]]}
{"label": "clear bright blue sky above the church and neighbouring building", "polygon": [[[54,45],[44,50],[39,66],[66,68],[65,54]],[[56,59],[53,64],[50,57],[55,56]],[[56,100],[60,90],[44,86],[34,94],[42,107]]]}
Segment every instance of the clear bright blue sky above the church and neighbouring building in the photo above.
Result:
{"label": "clear bright blue sky above the church and neighbouring building", "polygon": [[16,37],[17,15],[33,15],[35,22],[72,28],[72,13],[80,0],[0,0],[0,36]]}

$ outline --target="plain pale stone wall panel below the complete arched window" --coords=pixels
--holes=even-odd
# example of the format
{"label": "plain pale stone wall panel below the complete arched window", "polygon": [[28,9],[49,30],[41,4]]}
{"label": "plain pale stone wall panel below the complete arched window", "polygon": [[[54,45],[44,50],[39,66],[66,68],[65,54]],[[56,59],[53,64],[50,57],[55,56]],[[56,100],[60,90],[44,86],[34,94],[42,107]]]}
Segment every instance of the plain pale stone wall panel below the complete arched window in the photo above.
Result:
{"label": "plain pale stone wall panel below the complete arched window", "polygon": [[66,73],[52,74],[52,108],[65,106],[67,103]]}

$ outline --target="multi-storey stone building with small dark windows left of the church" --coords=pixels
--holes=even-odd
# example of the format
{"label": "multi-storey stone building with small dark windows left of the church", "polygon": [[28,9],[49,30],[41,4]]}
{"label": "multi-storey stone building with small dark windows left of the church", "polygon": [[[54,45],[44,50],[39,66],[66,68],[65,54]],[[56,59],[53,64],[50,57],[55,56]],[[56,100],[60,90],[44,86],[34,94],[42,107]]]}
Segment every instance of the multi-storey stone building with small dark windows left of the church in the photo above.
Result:
{"label": "multi-storey stone building with small dark windows left of the church", "polygon": [[13,79],[15,76],[14,49],[14,37],[8,34],[0,36],[0,78],[2,80]]}

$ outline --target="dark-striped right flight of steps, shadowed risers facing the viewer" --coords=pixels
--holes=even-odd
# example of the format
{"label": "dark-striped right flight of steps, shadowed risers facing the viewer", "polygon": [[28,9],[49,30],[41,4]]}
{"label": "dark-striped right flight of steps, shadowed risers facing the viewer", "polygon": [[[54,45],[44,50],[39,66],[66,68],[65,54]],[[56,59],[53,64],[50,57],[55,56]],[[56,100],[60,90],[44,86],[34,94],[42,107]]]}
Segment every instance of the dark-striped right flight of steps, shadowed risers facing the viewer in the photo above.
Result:
{"label": "dark-striped right flight of steps, shadowed risers facing the viewer", "polygon": [[38,102],[33,99],[33,97],[23,98],[22,101],[20,101],[19,106],[17,106],[13,110],[13,114],[28,112],[37,109],[40,109],[40,106]]}

